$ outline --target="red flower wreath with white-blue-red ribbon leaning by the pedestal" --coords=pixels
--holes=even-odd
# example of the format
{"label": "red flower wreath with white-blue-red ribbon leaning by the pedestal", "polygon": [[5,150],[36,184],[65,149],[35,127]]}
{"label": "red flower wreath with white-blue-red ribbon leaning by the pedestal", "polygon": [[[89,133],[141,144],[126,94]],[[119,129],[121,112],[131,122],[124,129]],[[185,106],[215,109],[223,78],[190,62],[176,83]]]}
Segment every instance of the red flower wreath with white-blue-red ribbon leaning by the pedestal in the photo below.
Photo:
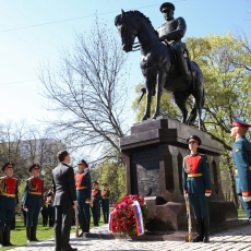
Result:
{"label": "red flower wreath with white-blue-red ribbon leaning by the pedestal", "polygon": [[144,198],[127,195],[119,201],[109,215],[109,231],[144,235],[144,224],[146,223],[148,206],[144,203]]}

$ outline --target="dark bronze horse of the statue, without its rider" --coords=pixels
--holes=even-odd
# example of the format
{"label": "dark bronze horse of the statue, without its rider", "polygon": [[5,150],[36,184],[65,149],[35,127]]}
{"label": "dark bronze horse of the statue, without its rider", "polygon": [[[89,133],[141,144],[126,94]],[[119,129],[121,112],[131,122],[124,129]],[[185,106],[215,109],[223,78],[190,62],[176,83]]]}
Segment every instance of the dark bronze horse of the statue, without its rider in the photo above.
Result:
{"label": "dark bronze horse of the statue, without its rider", "polygon": [[[141,47],[141,70],[145,79],[146,107],[142,120],[150,118],[152,96],[156,88],[156,105],[153,119],[159,116],[163,88],[172,92],[175,101],[182,111],[182,122],[192,124],[199,115],[199,129],[202,130],[201,111],[204,103],[204,83],[200,67],[191,61],[192,81],[186,84],[176,63],[170,46],[164,45],[152,26],[151,21],[140,11],[121,12],[115,19],[125,52],[132,51],[135,37]],[[186,100],[193,95],[193,109],[189,119]]]}

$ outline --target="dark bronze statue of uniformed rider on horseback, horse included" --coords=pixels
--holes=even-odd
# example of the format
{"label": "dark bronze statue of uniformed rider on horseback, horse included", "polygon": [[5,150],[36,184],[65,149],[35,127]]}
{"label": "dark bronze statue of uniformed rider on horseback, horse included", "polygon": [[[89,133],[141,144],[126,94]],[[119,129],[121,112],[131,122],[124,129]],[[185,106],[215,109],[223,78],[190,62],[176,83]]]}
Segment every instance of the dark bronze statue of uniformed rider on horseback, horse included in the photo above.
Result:
{"label": "dark bronze statue of uniformed rider on horseback, horse included", "polygon": [[[175,101],[182,112],[182,122],[192,124],[199,117],[199,129],[202,130],[201,112],[204,104],[204,83],[200,67],[189,59],[186,44],[181,41],[187,31],[182,17],[174,17],[175,5],[165,2],[160,5],[166,23],[157,31],[148,17],[140,11],[121,11],[115,19],[125,52],[141,49],[141,70],[145,80],[146,107],[142,120],[151,117],[152,96],[156,96],[153,119],[159,116],[159,105],[165,88],[172,92]],[[135,37],[139,45],[134,44]],[[184,53],[187,57],[184,57]],[[143,96],[142,95],[142,96]],[[186,101],[193,96],[193,109],[188,118]]]}

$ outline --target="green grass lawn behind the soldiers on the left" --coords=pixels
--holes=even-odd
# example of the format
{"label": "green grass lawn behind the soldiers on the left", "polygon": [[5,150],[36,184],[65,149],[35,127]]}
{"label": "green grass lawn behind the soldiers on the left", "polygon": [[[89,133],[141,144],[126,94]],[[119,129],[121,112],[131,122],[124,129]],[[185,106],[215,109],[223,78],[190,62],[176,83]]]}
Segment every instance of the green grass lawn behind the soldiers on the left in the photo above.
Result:
{"label": "green grass lawn behind the soldiers on the left", "polygon": [[[93,218],[91,217],[91,228],[93,227],[92,220],[93,220]],[[103,225],[103,215],[100,217],[99,226],[101,226],[101,225]],[[75,226],[72,226],[71,232],[74,232],[74,231],[75,231]],[[81,230],[80,230],[80,232],[81,232]],[[37,226],[37,239],[39,241],[43,241],[43,240],[47,240],[47,239],[51,239],[51,238],[53,238],[53,228],[52,227],[43,227],[41,218],[39,217],[39,223]],[[21,219],[21,217],[17,215],[15,217],[15,229],[11,230],[11,243],[14,246],[0,248],[0,251],[28,244],[26,242],[26,228],[24,227],[23,219]]]}

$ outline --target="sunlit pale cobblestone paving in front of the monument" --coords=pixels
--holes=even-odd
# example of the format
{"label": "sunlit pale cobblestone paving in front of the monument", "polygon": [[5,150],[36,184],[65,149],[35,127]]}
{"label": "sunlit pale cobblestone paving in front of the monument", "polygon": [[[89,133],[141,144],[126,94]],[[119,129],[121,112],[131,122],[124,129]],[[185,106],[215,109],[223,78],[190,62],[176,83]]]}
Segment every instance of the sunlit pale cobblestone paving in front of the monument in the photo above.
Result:
{"label": "sunlit pale cobblestone paving in front of the monument", "polygon": [[[101,231],[107,228],[107,225],[98,229],[92,229],[92,231]],[[77,248],[77,250],[88,251],[88,250],[157,250],[157,251],[168,251],[168,250],[203,250],[203,251],[251,251],[251,226],[244,225],[243,227],[238,227],[237,229],[231,229],[223,231],[211,236],[210,243],[189,243],[184,241],[132,241],[127,239],[88,239],[88,238],[75,238],[74,235],[71,236],[71,246]],[[53,251],[55,242],[53,240],[47,240],[43,242],[35,242],[29,246],[22,248],[11,249],[13,251]]]}

